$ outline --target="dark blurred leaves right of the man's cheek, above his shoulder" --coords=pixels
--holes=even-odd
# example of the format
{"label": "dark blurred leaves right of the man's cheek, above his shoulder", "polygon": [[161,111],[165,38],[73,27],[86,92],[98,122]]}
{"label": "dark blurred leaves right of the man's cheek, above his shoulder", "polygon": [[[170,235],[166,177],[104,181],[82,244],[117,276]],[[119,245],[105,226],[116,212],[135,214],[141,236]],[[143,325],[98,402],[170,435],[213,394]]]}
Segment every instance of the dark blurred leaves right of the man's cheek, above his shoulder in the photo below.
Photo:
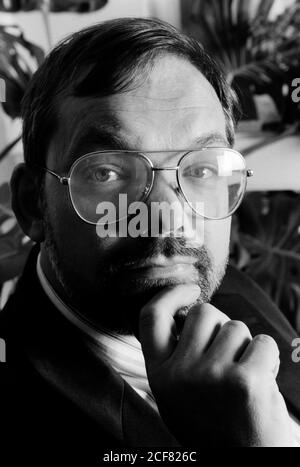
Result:
{"label": "dark blurred leaves right of the man's cheek, above his shoulder", "polygon": [[300,195],[248,194],[234,217],[231,262],[252,277],[300,331]]}

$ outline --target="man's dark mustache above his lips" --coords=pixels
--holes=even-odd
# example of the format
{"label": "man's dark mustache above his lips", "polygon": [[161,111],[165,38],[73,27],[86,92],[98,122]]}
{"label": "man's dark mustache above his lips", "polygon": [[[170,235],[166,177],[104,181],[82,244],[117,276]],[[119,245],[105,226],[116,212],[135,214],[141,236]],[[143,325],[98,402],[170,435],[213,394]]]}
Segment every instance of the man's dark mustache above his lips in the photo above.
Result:
{"label": "man's dark mustache above his lips", "polygon": [[151,238],[138,237],[132,242],[127,242],[126,247],[116,249],[107,258],[111,274],[115,274],[126,267],[139,267],[143,262],[157,256],[172,258],[174,256],[191,257],[195,259],[195,267],[201,271],[212,269],[210,254],[203,246],[197,248],[195,244],[190,246],[183,237]]}

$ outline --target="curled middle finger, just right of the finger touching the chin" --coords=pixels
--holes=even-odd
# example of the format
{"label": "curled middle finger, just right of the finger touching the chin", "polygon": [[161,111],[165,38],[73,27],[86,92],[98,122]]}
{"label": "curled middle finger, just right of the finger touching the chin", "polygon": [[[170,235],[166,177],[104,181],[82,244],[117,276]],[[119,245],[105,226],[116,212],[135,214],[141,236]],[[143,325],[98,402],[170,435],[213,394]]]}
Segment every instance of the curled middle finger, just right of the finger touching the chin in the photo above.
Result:
{"label": "curled middle finger, just right of the finger touching the chin", "polygon": [[213,305],[194,305],[188,312],[176,348],[178,358],[199,359],[214,340],[228,316]]}

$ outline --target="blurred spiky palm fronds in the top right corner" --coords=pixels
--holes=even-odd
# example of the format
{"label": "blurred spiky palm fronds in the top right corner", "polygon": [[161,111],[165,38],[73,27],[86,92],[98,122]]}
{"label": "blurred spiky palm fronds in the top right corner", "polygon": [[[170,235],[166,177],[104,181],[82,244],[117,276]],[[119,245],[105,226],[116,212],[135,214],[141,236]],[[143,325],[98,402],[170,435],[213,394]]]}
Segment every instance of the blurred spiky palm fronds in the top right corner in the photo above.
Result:
{"label": "blurred spiky palm fronds in the top right corner", "polygon": [[270,18],[275,0],[189,3],[191,32],[225,67],[244,117],[257,117],[253,95],[267,93],[283,121],[299,121],[290,86],[300,77],[300,1],[275,19]]}

